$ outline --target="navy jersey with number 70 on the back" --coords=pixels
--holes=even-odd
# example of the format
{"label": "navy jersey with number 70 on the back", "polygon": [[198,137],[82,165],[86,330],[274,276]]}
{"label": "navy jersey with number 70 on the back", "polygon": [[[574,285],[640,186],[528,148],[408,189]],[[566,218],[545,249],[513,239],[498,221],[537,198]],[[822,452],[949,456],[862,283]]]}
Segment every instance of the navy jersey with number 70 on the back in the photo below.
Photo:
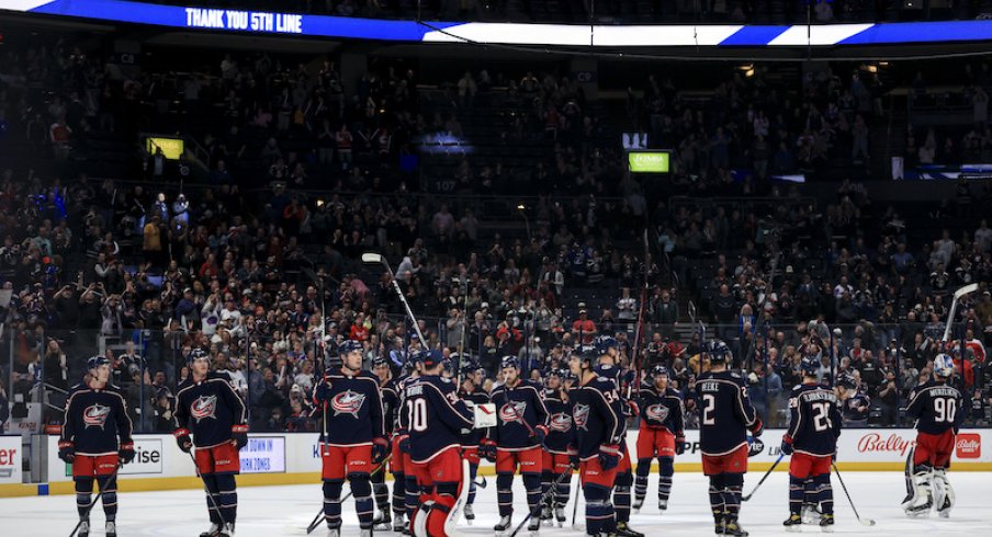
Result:
{"label": "navy jersey with number 70 on the back", "polygon": [[474,421],[450,379],[427,375],[404,391],[414,462],[427,462],[442,450],[461,445],[462,435],[469,433]]}

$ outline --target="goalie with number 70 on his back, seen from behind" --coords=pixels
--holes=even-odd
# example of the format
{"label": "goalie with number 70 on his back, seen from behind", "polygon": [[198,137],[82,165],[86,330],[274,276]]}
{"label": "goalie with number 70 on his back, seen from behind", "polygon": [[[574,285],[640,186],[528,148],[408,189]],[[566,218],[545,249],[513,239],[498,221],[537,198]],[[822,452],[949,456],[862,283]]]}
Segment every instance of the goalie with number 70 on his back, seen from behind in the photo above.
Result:
{"label": "goalie with number 70 on his back, seen from behind", "polygon": [[442,362],[440,351],[421,353],[422,376],[405,390],[410,460],[426,491],[412,521],[416,537],[449,535],[465,487],[461,438],[474,422],[454,382],[441,376]]}

